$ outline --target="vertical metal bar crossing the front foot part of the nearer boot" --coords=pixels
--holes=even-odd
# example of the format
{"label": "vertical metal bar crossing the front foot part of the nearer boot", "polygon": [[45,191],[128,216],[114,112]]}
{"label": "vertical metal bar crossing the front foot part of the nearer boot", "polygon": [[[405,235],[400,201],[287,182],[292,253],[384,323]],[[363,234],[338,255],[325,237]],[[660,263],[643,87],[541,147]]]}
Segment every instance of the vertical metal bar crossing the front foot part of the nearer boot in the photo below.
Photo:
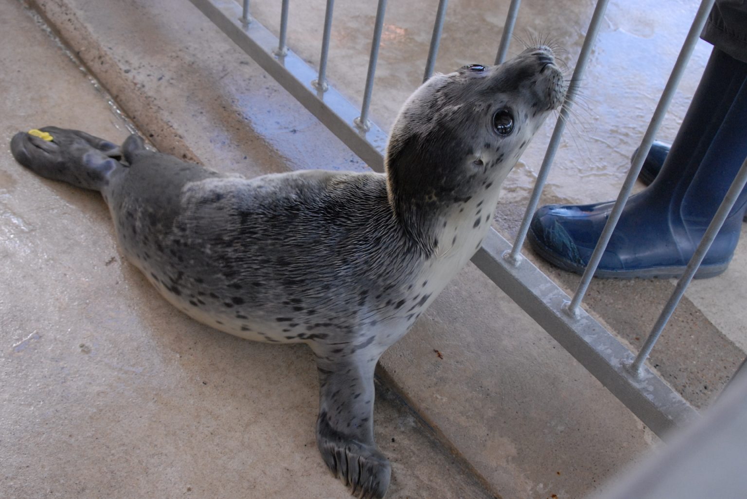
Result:
{"label": "vertical metal bar crossing the front foot part of the nearer boot", "polygon": [[636,183],[636,178],[638,178],[638,174],[641,171],[648,150],[651,149],[651,144],[654,142],[659,126],[661,125],[661,122],[663,122],[666,110],[669,107],[669,102],[672,101],[672,97],[675,95],[675,90],[677,90],[677,86],[685,72],[687,61],[692,54],[692,49],[695,48],[695,43],[698,42],[698,37],[700,36],[701,31],[703,31],[703,26],[705,25],[708,13],[710,13],[710,9],[713,7],[713,1],[714,0],[703,0],[698,9],[698,14],[692,21],[692,26],[690,26],[690,31],[687,34],[685,43],[682,45],[682,50],[680,51],[680,55],[677,57],[675,67],[672,69],[672,75],[669,75],[669,81],[666,82],[666,87],[664,87],[664,92],[662,93],[659,104],[657,104],[657,108],[654,111],[654,116],[651,118],[651,123],[648,125],[648,129],[643,136],[641,146],[638,148],[638,154],[633,157],[630,172],[627,172],[627,178],[625,178],[622,189],[620,189],[620,193],[617,196],[615,206],[610,212],[610,218],[607,219],[607,224],[604,225],[604,230],[602,230],[602,233],[599,236],[599,241],[594,248],[589,263],[586,265],[586,270],[583,272],[576,293],[574,294],[571,303],[568,304],[566,311],[570,313],[571,316],[576,313],[576,310],[583,300],[583,295],[585,295],[586,290],[589,289],[589,283],[591,283],[592,277],[594,277],[594,272],[597,270],[597,266],[602,259],[605,248],[607,248],[607,243],[610,242],[612,232],[615,230],[615,226],[622,215],[622,209],[625,207],[625,202],[630,196],[630,192],[633,190],[633,185]]}

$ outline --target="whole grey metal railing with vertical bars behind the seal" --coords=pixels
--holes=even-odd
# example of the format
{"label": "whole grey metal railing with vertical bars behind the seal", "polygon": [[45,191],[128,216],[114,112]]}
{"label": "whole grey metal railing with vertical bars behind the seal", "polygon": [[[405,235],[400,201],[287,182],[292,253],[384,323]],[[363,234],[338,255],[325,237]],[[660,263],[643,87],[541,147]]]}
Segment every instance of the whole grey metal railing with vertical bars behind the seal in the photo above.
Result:
{"label": "whole grey metal railing with vertical bars behind the seal", "polygon": [[[327,0],[324,21],[322,52],[318,70],[311,68],[294,51],[285,45],[285,34],[288,28],[288,0],[282,3],[280,37],[276,38],[260,23],[249,16],[249,2],[243,6],[235,0],[190,0],[205,16],[208,16],[233,42],[249,54],[265,71],[267,71],[285,90],[291,93],[333,134],[338,136],[374,171],[383,172],[383,154],[387,134],[368,119],[368,109],[373,95],[373,75],[376,71],[382,23],[386,0],[379,0],[376,10],[376,22],[371,42],[371,57],[368,63],[364,98],[361,107],[347,101],[326,79],[326,63],[329,51],[329,37],[332,29],[332,10],[334,0]],[[575,357],[591,374],[616,395],[631,412],[643,421],[659,436],[663,436],[672,427],[695,418],[697,412],[678,392],[660,379],[644,364],[648,353],[653,348],[669,316],[677,306],[686,286],[698,269],[710,243],[737,199],[737,195],[747,182],[747,161],[737,174],[728,194],[719,207],[718,213],[711,222],[705,236],[698,246],[695,255],[687,266],[684,277],[679,281],[672,298],[666,304],[659,320],[645,345],[634,355],[622,345],[604,326],[589,316],[580,304],[586,294],[589,283],[595,273],[601,255],[607,247],[610,235],[622,213],[633,183],[640,172],[643,161],[654,141],[657,130],[672,100],[675,89],[683,75],[698,34],[706,22],[707,14],[714,0],[701,3],[695,20],[686,37],[672,75],[642,139],[638,153],[633,158],[630,172],[619,193],[610,219],[601,234],[592,259],[578,285],[574,296],[565,294],[552,280],[536,268],[529,260],[521,256],[521,247],[527,236],[533,213],[539,204],[539,196],[548,177],[555,152],[560,145],[560,138],[565,128],[568,113],[574,103],[577,82],[583,78],[589,54],[594,46],[608,0],[599,0],[587,30],[586,39],[578,56],[574,74],[568,87],[560,116],[555,125],[551,141],[545,153],[545,159],[533,189],[529,204],[521,222],[521,228],[514,244],[503,239],[498,232],[491,229],[472,261],[497,284],[506,295],[509,295],[535,321],[539,323],[557,342]],[[509,14],[503,29],[496,63],[506,57],[513,25],[518,13],[520,0],[512,0]],[[433,26],[430,49],[425,63],[424,79],[433,74],[438,45],[447,0],[439,0],[436,19]]]}

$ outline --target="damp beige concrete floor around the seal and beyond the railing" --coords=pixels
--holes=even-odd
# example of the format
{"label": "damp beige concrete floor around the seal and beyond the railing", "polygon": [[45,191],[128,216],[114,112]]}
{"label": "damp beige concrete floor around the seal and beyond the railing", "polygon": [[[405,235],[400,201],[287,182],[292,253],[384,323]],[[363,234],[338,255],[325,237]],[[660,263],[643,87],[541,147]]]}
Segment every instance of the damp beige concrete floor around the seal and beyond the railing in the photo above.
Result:
{"label": "damp beige concrete floor around the seal and beyond the railing", "polygon": [[[270,27],[276,3],[252,2]],[[297,3],[289,43],[313,63],[318,30],[310,26],[324,2]],[[495,57],[506,5],[485,4],[450,2],[437,69]],[[642,4],[611,4],[587,77],[594,110],[580,111],[548,201],[616,195],[669,68],[622,70],[642,65],[652,44],[673,60],[697,7],[646,2],[667,15],[642,16]],[[186,0],[35,5],[161,151],[247,176],[365,168]],[[592,2],[547,5],[524,1],[519,33],[551,31],[575,57]],[[329,67],[356,101],[375,11],[366,9],[338,5]],[[13,31],[13,43],[0,47],[3,67],[13,69],[0,79],[0,254],[9,263],[0,268],[7,345],[0,442],[10,456],[0,495],[346,497],[314,446],[309,354],[215,333],[172,310],[122,262],[96,195],[40,180],[10,157],[7,143],[18,130],[55,124],[119,140],[128,125],[21,4],[2,4],[0,21]],[[391,5],[373,107],[382,125],[421,78],[432,22],[429,9]],[[707,53],[698,47],[662,138],[674,135]],[[515,230],[551,125],[506,183],[495,222],[503,233]],[[652,357],[699,407],[744,356],[743,313],[719,296],[745,292],[738,264],[745,255],[741,245],[725,276],[689,290],[666,333],[669,344]],[[574,285],[574,276],[545,268],[562,286]],[[667,281],[595,283],[587,307],[635,345],[672,288]],[[580,498],[657,442],[472,266],[388,351],[382,376],[376,439],[394,463],[388,497]],[[382,397],[387,387],[417,416],[397,395]]]}

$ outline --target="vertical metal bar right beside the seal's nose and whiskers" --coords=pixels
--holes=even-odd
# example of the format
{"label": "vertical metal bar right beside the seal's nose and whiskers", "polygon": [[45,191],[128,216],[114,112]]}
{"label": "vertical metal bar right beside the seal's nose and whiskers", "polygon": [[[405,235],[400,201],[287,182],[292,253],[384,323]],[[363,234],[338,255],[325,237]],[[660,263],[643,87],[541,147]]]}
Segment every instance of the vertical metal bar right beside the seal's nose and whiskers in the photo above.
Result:
{"label": "vertical metal bar right beside the seal's nose and whiskers", "polygon": [[557,123],[555,124],[553,135],[548,144],[548,150],[545,151],[545,159],[542,160],[542,166],[539,169],[539,174],[537,174],[537,181],[534,184],[534,190],[532,191],[529,204],[527,204],[527,210],[524,212],[524,219],[521,221],[521,226],[519,227],[511,251],[508,254],[503,255],[506,260],[509,260],[509,262],[514,265],[517,265],[521,261],[521,247],[524,245],[524,240],[527,239],[527,231],[532,222],[534,211],[537,209],[537,204],[539,204],[539,196],[542,195],[542,187],[545,186],[545,182],[548,180],[550,166],[555,159],[555,153],[560,145],[560,137],[565,130],[565,122],[568,121],[568,114],[573,106],[573,99],[578,92],[578,84],[583,77],[586,63],[589,60],[589,54],[591,54],[599,28],[604,19],[604,11],[607,10],[607,3],[609,3],[609,0],[597,1],[592,20],[589,22],[589,29],[586,31],[586,38],[583,40],[581,53],[578,54],[578,60],[576,62],[576,68],[573,71],[573,76],[571,77],[571,83],[568,85],[568,91],[565,92],[565,101],[560,109],[560,116],[558,116]]}

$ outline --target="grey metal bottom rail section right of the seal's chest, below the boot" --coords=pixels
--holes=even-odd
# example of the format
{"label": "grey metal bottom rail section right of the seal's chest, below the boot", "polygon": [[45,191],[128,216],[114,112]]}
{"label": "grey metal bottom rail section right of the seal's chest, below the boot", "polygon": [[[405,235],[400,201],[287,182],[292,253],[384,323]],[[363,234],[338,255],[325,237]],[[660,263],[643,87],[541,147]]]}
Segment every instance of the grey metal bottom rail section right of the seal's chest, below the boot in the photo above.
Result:
{"label": "grey metal bottom rail section right of the seal's chest, below the boot", "polygon": [[628,370],[633,354],[595,318],[583,310],[575,317],[565,313],[570,297],[529,260],[506,265],[501,255],[510,249],[491,228],[472,263],[658,436],[696,417],[695,409],[646,366],[633,376]]}

